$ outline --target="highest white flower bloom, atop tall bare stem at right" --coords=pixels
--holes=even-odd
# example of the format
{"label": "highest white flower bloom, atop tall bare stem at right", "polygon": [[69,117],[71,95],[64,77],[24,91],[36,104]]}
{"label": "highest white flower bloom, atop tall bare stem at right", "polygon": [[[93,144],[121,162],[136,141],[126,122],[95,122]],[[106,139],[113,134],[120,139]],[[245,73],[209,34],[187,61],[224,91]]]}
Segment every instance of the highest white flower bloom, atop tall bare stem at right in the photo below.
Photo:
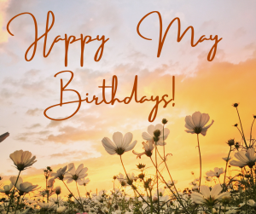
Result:
{"label": "highest white flower bloom, atop tall bare stem at right", "polygon": [[209,114],[195,112],[192,114],[192,117],[189,115],[185,118],[185,127],[188,129],[185,131],[191,134],[201,134],[202,136],[206,136],[207,130],[214,122],[214,120],[212,119],[212,123],[205,126],[208,123],[209,119]]}

